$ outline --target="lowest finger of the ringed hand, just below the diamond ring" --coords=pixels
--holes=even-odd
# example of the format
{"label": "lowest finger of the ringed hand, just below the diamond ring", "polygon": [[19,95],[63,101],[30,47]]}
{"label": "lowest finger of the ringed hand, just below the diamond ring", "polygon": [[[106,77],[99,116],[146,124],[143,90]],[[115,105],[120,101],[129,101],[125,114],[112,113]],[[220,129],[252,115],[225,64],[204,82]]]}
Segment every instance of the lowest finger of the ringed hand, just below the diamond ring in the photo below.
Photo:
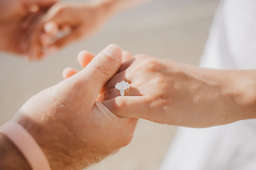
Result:
{"label": "lowest finger of the ringed hand, just below the diamond ring", "polygon": [[118,96],[101,103],[119,117],[145,118],[149,110],[145,96]]}

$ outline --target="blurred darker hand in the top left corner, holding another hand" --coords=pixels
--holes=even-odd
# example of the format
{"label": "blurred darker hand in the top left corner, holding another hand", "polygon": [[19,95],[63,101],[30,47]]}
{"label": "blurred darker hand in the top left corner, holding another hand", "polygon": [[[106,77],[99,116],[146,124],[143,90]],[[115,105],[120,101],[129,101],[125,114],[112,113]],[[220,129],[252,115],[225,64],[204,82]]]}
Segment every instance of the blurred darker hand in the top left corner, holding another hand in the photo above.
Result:
{"label": "blurred darker hand in the top left corner, holding another hand", "polygon": [[41,17],[58,0],[1,0],[0,50],[36,59],[41,51]]}

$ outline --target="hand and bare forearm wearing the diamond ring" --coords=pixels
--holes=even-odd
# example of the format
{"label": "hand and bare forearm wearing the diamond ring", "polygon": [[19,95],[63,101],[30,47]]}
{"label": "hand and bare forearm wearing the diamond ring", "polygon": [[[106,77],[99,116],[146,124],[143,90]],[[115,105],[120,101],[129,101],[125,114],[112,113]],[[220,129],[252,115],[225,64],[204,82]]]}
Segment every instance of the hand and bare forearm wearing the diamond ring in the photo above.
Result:
{"label": "hand and bare forearm wearing the diamond ring", "polygon": [[[196,128],[224,125],[256,118],[255,73],[136,55],[122,63],[98,101],[120,117]],[[122,80],[131,86],[124,97],[115,89]]]}

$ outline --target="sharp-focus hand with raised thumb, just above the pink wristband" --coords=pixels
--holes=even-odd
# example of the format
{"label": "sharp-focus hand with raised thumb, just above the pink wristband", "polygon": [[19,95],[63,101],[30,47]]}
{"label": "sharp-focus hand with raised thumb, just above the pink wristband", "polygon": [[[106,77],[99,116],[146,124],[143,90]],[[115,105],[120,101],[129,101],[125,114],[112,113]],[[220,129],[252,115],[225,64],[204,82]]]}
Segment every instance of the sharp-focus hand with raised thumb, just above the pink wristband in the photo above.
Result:
{"label": "sharp-focus hand with raised thumb, just above the pink wristband", "polygon": [[32,134],[54,169],[82,169],[132,140],[137,119],[121,118],[96,101],[117,72],[122,50],[109,45],[78,74],[41,91],[14,120]]}

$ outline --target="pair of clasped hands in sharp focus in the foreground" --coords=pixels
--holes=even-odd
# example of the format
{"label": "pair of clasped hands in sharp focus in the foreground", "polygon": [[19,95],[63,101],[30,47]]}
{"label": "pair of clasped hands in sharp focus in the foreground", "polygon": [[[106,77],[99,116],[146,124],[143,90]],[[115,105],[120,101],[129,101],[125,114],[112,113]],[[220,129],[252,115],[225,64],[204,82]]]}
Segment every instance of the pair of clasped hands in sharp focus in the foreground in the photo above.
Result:
{"label": "pair of clasped hands in sharp focus in the foreground", "polygon": [[[186,127],[250,118],[232,108],[238,101],[232,98],[234,83],[225,80],[228,71],[131,57],[114,44],[96,56],[83,51],[78,61],[84,69],[65,69],[67,79],[30,98],[14,117],[39,143],[52,169],[85,168],[117,152],[132,140],[137,118]],[[122,80],[130,83],[126,96],[115,89]]]}

